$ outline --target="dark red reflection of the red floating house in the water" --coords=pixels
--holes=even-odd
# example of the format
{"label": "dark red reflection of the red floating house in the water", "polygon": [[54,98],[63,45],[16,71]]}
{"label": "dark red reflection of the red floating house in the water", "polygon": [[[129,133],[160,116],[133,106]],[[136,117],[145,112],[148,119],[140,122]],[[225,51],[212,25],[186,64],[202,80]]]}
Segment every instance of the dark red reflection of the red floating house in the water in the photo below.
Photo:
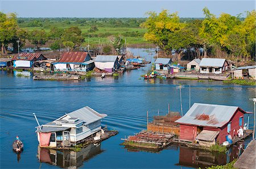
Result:
{"label": "dark red reflection of the red floating house in the water", "polygon": [[179,163],[176,165],[195,168],[224,165],[237,159],[242,154],[243,149],[242,143],[230,147],[226,153],[197,150],[187,146],[180,146]]}

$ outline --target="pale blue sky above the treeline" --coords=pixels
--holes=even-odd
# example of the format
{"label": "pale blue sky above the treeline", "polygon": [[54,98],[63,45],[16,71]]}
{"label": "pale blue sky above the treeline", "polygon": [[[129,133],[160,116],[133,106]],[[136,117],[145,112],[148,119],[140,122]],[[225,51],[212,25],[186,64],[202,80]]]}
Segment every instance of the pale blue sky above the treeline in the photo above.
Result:
{"label": "pale blue sky above the treeline", "polygon": [[30,18],[144,18],[147,11],[167,9],[178,12],[181,18],[202,18],[208,7],[218,16],[222,12],[237,15],[255,9],[255,1],[47,1],[0,0],[0,11],[15,12],[18,17]]}

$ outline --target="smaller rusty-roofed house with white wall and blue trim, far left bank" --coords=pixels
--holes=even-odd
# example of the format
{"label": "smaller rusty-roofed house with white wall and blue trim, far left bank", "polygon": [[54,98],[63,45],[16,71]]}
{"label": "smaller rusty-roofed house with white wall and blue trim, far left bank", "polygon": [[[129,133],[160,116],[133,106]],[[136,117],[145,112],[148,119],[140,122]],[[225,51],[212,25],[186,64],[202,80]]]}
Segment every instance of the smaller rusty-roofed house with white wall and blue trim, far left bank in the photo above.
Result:
{"label": "smaller rusty-roofed house with white wall and blue trim, far left bank", "polygon": [[31,68],[35,61],[47,60],[42,53],[20,53],[13,57],[13,67]]}

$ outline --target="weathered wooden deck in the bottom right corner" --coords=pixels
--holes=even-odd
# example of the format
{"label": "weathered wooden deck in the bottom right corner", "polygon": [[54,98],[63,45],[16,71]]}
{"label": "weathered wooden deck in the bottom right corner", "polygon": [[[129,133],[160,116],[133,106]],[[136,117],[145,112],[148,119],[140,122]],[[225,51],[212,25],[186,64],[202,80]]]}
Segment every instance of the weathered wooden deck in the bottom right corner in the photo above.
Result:
{"label": "weathered wooden deck in the bottom right corner", "polygon": [[236,168],[255,168],[256,167],[256,140],[252,140],[243,151],[237,162],[234,163]]}

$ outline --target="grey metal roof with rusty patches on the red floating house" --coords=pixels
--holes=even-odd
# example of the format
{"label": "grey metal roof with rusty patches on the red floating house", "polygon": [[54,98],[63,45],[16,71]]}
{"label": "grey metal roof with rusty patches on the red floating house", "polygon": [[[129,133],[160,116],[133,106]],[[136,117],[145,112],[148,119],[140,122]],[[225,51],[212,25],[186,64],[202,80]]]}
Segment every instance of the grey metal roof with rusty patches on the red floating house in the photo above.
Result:
{"label": "grey metal roof with rusty patches on the red floating house", "polygon": [[[199,126],[221,127],[229,122],[238,108],[239,107],[229,105],[195,103],[183,117],[175,122]],[[208,116],[209,119],[199,120],[197,117],[200,115]]]}

